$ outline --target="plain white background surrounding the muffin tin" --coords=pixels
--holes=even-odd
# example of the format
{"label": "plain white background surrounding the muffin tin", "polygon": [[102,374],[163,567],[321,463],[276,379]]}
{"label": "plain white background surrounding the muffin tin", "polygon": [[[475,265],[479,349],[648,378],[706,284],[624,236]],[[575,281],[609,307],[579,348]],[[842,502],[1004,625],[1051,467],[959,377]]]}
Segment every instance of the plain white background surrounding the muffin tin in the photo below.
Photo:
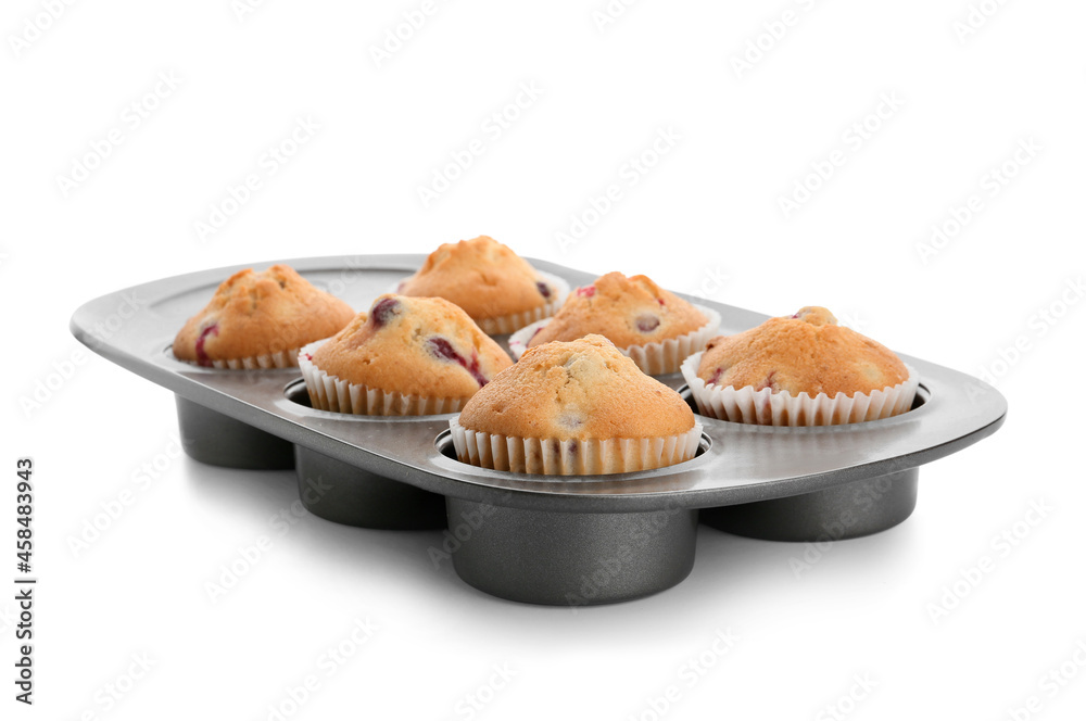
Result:
{"label": "plain white background surrounding the muffin tin", "polygon": [[[4,3],[4,528],[14,460],[33,456],[40,599],[34,708],[11,698],[13,604],[0,605],[2,714],[264,719],[315,673],[319,688],[289,718],[468,718],[457,704],[506,665],[515,676],[475,718],[652,719],[669,685],[668,719],[830,718],[828,705],[853,719],[998,719],[1031,696],[1041,710],[1028,718],[1081,718],[1086,309],[1059,303],[1084,267],[1086,7],[983,4],[993,14],[974,15],[967,35],[956,30],[964,0],[646,0],[602,29],[603,0],[457,0],[438,2],[378,66],[371,48],[420,1],[272,0],[239,17],[229,0],[103,0],[52,21],[38,2]],[[737,72],[748,42],[768,50]],[[159,86],[166,97],[134,127],[126,107],[160,73],[179,85]],[[484,131],[531,83],[540,97],[501,137]],[[896,110],[869,117],[892,96]],[[268,175],[262,155],[299,117],[319,130]],[[857,143],[848,134],[864,119],[879,127]],[[113,129],[123,142],[65,193],[59,176]],[[629,185],[623,166],[661,129],[678,141]],[[424,204],[418,187],[477,138],[484,153]],[[1015,164],[1030,139],[1039,150]],[[780,199],[835,151],[843,164],[785,217]],[[994,192],[985,176],[1007,162],[1014,177]],[[261,188],[202,240],[197,222],[248,174]],[[556,232],[613,184],[620,200],[563,249]],[[932,225],[974,194],[980,210],[923,262]],[[763,313],[826,305],[900,352],[994,368],[1010,415],[992,439],[922,470],[906,523],[834,544],[798,577],[790,561],[803,545],[702,529],[681,585],[573,614],[435,571],[426,548],[437,533],[313,517],[274,535],[213,604],[204,584],[270,532],[296,498],[292,475],[165,463],[171,394],[89,353],[27,405],[81,347],[67,319],[91,298],[232,263],[429,252],[479,233]],[[706,284],[719,275],[722,286]],[[1065,313],[1040,321],[1053,303]],[[1019,337],[1027,350],[1001,364]],[[134,475],[155,460],[165,469],[139,490]],[[73,553],[68,537],[125,489],[135,504]],[[1036,501],[1052,511],[1023,524]],[[997,551],[993,537],[1014,529],[1023,537]],[[994,570],[959,583],[964,597],[933,620],[945,586],[985,556]],[[325,675],[318,658],[355,619],[379,630]],[[683,666],[718,630],[734,646],[687,683]],[[105,684],[134,654],[153,667],[131,687],[122,680],[128,693],[106,707]],[[1075,678],[1041,685],[1061,665]],[[866,674],[874,687],[846,700]]]}

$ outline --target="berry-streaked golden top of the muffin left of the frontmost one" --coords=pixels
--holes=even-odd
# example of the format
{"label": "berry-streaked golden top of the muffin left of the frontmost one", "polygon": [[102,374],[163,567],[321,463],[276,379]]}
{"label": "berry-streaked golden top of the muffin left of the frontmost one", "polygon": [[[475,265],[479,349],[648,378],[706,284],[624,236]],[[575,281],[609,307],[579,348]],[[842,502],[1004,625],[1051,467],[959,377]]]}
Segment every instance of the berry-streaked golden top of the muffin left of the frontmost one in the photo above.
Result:
{"label": "berry-streaked golden top of the muffin left of the frontmost one", "polygon": [[469,397],[513,364],[456,305],[392,293],[374,301],[312,360],[349,383],[440,399]]}

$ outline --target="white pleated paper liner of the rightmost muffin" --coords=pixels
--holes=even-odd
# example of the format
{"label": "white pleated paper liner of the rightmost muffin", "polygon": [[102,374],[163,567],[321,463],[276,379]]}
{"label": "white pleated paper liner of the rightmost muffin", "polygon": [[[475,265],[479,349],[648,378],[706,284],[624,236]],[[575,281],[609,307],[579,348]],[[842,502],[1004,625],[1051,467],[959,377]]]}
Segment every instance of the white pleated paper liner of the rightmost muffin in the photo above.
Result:
{"label": "white pleated paper liner of the rightmost muffin", "polygon": [[[704,352],[703,352],[704,353]],[[703,416],[759,426],[841,426],[897,416],[912,407],[920,383],[915,368],[906,364],[909,377],[897,385],[871,393],[819,393],[792,395],[785,391],[754,385],[743,388],[707,385],[697,377],[703,353],[695,353],[682,364],[682,375]]]}

